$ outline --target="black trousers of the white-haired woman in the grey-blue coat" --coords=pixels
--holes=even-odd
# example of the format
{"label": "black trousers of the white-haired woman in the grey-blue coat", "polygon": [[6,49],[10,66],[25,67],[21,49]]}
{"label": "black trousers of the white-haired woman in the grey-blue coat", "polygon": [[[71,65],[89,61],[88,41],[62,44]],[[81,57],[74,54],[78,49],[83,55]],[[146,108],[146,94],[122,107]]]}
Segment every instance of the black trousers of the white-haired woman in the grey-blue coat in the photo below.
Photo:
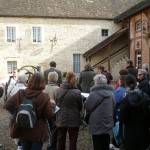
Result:
{"label": "black trousers of the white-haired woman in the grey-blue coat", "polygon": [[109,150],[110,135],[92,135],[94,150]]}

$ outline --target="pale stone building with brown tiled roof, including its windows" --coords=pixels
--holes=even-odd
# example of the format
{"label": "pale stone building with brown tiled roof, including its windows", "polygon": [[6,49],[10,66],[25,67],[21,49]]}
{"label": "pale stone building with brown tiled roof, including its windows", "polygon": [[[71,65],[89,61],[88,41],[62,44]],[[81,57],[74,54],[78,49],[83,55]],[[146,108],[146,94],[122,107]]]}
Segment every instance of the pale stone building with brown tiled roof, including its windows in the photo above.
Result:
{"label": "pale stone building with brown tiled roof, including its windows", "polygon": [[[44,70],[51,60],[62,72],[79,73],[88,60],[83,54],[120,32],[121,24],[114,18],[140,1],[0,0],[0,78],[11,74],[13,67]],[[114,54],[115,46],[110,51]]]}

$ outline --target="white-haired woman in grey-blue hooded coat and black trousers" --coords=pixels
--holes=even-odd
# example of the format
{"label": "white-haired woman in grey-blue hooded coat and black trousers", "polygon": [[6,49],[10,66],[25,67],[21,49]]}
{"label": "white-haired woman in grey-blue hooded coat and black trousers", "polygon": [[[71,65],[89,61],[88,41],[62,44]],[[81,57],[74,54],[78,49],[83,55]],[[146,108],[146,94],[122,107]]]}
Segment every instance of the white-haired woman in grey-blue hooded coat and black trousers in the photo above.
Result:
{"label": "white-haired woman in grey-blue hooded coat and black trousers", "polygon": [[110,133],[114,127],[114,87],[107,84],[103,74],[94,77],[94,84],[84,102],[85,109],[90,113],[89,131],[94,150],[109,150]]}

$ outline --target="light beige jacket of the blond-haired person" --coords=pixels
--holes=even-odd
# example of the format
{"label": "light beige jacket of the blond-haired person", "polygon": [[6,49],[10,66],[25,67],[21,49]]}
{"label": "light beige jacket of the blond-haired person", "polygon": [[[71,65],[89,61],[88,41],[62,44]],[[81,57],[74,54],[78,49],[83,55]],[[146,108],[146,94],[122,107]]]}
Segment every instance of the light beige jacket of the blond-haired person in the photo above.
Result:
{"label": "light beige jacket of the blond-haired person", "polygon": [[49,83],[46,85],[45,90],[43,92],[46,92],[50,99],[55,100],[56,99],[56,90],[59,88],[59,86],[56,83]]}

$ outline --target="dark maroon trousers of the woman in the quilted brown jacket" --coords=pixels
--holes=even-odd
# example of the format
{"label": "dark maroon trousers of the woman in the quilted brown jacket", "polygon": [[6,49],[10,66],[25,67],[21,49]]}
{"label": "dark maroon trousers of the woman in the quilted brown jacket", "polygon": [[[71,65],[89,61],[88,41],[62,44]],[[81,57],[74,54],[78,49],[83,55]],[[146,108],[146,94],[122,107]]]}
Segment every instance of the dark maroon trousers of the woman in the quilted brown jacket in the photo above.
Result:
{"label": "dark maroon trousers of the woman in the quilted brown jacket", "polygon": [[61,127],[58,128],[57,150],[66,150],[66,135],[69,133],[69,150],[77,149],[77,138],[79,127]]}

